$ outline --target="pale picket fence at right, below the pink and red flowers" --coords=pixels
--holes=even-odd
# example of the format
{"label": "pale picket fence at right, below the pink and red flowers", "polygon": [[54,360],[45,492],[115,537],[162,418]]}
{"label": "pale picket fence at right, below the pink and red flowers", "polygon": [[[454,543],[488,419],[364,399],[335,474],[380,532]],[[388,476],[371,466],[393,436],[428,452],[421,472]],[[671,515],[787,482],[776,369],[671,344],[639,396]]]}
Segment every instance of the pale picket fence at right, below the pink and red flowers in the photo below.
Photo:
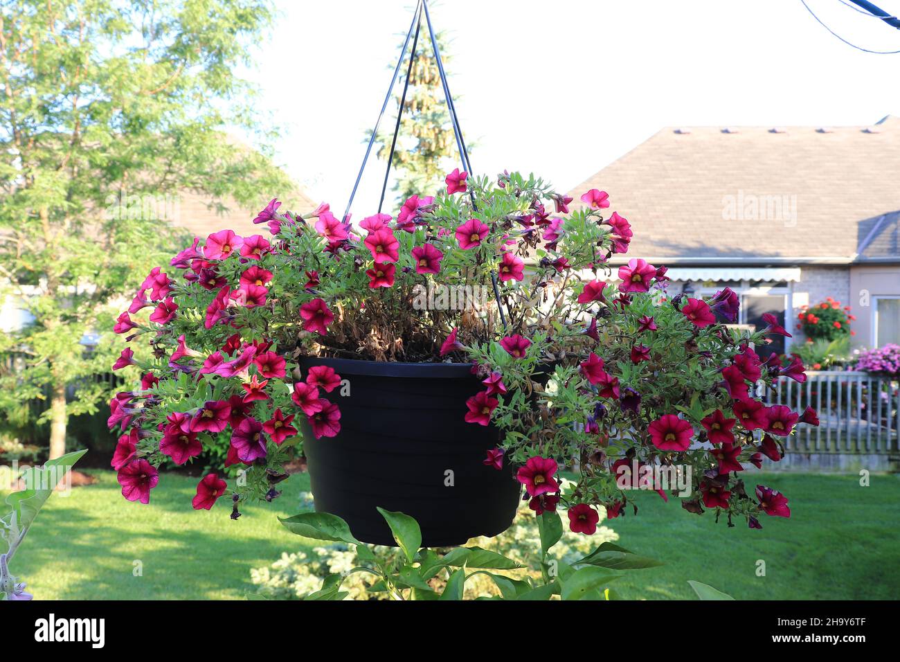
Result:
{"label": "pale picket fence at right, below the pink and red flowers", "polygon": [[799,413],[808,405],[819,413],[819,427],[801,424],[788,438],[788,453],[897,453],[896,377],[852,370],[812,371],[806,377],[804,384],[780,377],[765,396],[769,404],[787,404]]}

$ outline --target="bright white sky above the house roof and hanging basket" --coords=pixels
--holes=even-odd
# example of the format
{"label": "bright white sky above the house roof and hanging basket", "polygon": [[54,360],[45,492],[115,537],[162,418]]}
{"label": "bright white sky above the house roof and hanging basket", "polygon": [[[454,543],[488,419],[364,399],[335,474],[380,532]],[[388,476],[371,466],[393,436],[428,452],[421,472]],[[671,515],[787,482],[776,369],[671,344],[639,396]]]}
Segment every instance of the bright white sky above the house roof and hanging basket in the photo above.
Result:
{"label": "bright white sky above the house roof and hanging basket", "polygon": [[[806,0],[844,39],[900,30]],[[900,14],[900,0],[876,5]],[[280,165],[343,210],[412,18],[411,0],[281,0],[246,72],[281,128]],[[433,0],[476,174],[535,172],[568,191],[666,126],[868,125],[900,114],[900,54],[851,48],[800,0]],[[375,212],[370,158],[354,216]],[[389,196],[390,197],[390,196]],[[385,210],[391,212],[391,210]]]}

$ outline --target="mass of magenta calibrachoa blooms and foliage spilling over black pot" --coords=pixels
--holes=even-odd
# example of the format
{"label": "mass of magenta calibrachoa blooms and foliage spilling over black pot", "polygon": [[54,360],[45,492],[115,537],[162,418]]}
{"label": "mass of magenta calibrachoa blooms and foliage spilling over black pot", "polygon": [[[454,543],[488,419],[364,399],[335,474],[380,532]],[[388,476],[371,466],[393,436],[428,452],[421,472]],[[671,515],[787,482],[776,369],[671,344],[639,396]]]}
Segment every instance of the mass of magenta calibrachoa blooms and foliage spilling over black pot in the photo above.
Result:
{"label": "mass of magenta calibrachoa blooms and foliage spilling over black pot", "polygon": [[[472,391],[449,411],[491,435],[466,470],[511,469],[531,510],[567,512],[572,531],[596,531],[601,507],[631,512],[616,476],[626,465],[693,467],[683,510],[713,509],[712,520],[755,529],[763,512],[787,514],[782,495],[760,486],[754,499],[739,479],[818,423],[812,409],[755,395],[781,376],[806,380],[799,358],[767,347],[788,335],[778,318],[727,329],[740,312],[732,290],[679,294],[665,266],[624,258],[646,220],[633,227],[605,191],[565,195],[537,177],[491,183],[458,168],[446,185],[411,195],[396,222],[375,213],[356,226],[328,204],[292,213],[273,198],[253,219],[271,237],[212,232],[150,271],[113,327],[135,342],[115,361],[131,383],[107,421],[123,494],[146,503],[160,468],[224,456],[195,508],[225,494],[232,466],[247,471],[232,517],[238,503],[271,500],[309,441],[301,431],[336,444],[342,434],[353,385],[305,359],[357,358],[466,366]],[[896,374],[897,356],[869,365]],[[572,485],[559,468],[575,472]]]}

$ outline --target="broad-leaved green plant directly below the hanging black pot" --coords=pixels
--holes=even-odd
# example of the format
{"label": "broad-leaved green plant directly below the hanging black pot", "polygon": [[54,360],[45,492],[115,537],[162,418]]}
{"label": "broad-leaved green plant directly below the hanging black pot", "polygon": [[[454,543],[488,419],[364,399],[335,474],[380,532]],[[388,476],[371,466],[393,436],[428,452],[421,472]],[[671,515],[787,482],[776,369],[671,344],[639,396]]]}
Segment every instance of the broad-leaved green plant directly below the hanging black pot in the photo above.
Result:
{"label": "broad-leaved green plant directly below the hanging black pot", "polygon": [[[354,567],[329,574],[319,590],[302,599],[343,600],[349,595],[343,588],[347,578],[364,573],[374,577],[374,584],[367,587],[369,593],[392,600],[462,600],[466,583],[477,576],[489,577],[497,589],[497,594],[480,599],[617,600],[619,596],[610,586],[617,578],[630,570],[662,565],[608,541],[571,563],[554,558],[551,549],[563,538],[563,521],[559,513],[546,511],[537,517],[541,553],[532,568],[540,576],[523,573],[522,578],[515,578],[501,573],[528,568],[512,558],[480,547],[458,547],[446,554],[421,549],[422,534],[415,519],[383,508],[378,512],[391,528],[397,549],[365,545],[356,540],[346,521],[327,512],[302,512],[281,520],[289,531],[304,538],[345,543],[356,550]],[[711,586],[698,582],[691,586],[701,599],[728,599]]]}

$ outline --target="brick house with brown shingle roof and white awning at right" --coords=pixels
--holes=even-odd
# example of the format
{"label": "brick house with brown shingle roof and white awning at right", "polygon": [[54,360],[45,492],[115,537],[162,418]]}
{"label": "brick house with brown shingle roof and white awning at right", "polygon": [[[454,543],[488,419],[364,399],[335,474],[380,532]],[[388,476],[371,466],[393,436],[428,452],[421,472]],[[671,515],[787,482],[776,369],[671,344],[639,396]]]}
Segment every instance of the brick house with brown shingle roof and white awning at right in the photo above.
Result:
{"label": "brick house with brown shingle roof and white awning at right", "polygon": [[[851,305],[856,346],[900,343],[900,117],[871,126],[666,128],[576,186],[605,190],[635,231],[627,255],[671,292],[741,295],[745,324]],[[781,346],[773,349],[784,350]]]}

